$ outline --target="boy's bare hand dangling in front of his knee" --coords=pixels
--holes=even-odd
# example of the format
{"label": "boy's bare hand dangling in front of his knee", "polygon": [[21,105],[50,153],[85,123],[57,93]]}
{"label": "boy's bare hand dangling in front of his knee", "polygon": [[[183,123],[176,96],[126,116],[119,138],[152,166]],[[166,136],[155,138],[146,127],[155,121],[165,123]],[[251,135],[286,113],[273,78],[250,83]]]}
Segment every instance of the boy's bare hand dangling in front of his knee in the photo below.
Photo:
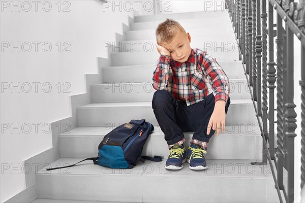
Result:
{"label": "boy's bare hand dangling in front of his knee", "polygon": [[216,130],[216,135],[219,136],[220,130],[225,132],[226,112],[225,112],[226,101],[217,100],[215,103],[214,111],[208,121],[206,133],[209,134],[211,128]]}

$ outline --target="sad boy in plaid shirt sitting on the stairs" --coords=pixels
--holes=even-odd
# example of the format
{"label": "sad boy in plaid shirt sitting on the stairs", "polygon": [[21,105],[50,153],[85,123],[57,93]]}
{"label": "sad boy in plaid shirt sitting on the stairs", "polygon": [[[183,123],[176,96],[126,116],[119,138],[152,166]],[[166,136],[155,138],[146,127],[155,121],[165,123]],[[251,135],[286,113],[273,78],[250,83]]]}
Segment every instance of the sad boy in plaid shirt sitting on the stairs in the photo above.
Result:
{"label": "sad boy in plaid shirt sitting on the stairs", "polygon": [[[229,80],[215,58],[190,47],[191,36],[175,20],[166,19],[156,30],[161,54],[153,76],[152,107],[170,155],[165,168],[179,170],[186,160],[192,170],[207,168],[203,154],[212,135],[222,128],[230,105]],[[213,93],[208,95],[207,80]],[[195,131],[186,150],[183,131]]]}

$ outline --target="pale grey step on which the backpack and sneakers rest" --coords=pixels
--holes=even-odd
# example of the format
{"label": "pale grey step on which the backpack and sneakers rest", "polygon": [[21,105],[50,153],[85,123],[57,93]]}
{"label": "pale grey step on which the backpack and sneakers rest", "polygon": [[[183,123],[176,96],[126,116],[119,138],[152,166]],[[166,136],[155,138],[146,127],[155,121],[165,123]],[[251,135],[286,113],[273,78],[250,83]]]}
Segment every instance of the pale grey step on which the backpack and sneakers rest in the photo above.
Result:
{"label": "pale grey step on which the backpack and sneakers rest", "polygon": [[[192,171],[188,163],[179,171],[165,170],[166,160],[139,162],[130,170],[111,169],[80,158],[61,158],[36,175],[38,198],[132,202],[277,202],[268,165],[256,160],[207,159],[205,171]],[[170,186],[169,186],[170,184]],[[132,187],[131,187],[132,185]],[[173,187],[176,186],[176,187]],[[202,189],[202,187],[208,189]],[[187,190],[186,190],[187,187]],[[185,194],[188,195],[177,195]],[[247,195],[244,195],[247,194]]]}

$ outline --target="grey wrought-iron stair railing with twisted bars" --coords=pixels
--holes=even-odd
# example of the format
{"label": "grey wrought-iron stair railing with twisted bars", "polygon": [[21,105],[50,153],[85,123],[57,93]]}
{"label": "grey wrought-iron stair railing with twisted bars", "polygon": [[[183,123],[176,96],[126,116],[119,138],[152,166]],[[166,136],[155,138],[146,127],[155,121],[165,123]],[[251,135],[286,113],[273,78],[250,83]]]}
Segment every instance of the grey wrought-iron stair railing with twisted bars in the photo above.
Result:
{"label": "grey wrought-iron stair railing with twisted bars", "polygon": [[[226,0],[226,9],[233,23],[248,85],[252,88],[251,96],[263,137],[262,162],[252,164],[267,164],[268,160],[280,201],[283,202],[282,190],[285,201],[293,202],[294,131],[297,127],[296,105],[293,103],[294,35],[301,43],[301,188],[305,183],[305,1]],[[276,24],[273,24],[273,10],[277,12]],[[285,28],[283,20],[286,22]],[[276,32],[273,27],[276,27]],[[277,44],[276,62],[274,37]],[[275,142],[276,148],[273,147]],[[277,174],[271,160],[275,162]],[[284,184],[286,171],[287,185]]]}

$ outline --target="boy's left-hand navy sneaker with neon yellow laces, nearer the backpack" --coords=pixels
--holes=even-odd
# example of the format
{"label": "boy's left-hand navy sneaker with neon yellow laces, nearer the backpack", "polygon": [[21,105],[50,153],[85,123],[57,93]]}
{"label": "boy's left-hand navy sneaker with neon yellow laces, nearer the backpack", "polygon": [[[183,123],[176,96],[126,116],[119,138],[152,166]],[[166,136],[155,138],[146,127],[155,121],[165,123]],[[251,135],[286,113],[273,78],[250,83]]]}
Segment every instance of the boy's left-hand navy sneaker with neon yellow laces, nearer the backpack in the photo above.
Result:
{"label": "boy's left-hand navy sneaker with neon yellow laces, nearer the backpack", "polygon": [[169,170],[179,170],[183,168],[182,163],[187,160],[186,148],[182,145],[174,145],[170,149],[170,155],[165,164],[165,168]]}

